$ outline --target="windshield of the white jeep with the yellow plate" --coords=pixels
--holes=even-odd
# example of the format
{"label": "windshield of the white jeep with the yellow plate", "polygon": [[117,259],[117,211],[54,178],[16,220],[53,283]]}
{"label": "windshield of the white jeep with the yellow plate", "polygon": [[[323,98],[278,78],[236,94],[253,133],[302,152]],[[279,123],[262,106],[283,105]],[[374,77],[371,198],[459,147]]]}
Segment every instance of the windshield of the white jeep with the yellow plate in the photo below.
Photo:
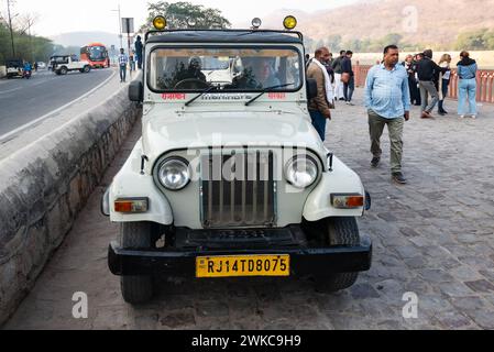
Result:
{"label": "windshield of the white jeep with the yellow plate", "polygon": [[[156,48],[147,80],[154,91],[296,91],[303,65],[295,47]],[[284,85],[290,84],[285,87]]]}

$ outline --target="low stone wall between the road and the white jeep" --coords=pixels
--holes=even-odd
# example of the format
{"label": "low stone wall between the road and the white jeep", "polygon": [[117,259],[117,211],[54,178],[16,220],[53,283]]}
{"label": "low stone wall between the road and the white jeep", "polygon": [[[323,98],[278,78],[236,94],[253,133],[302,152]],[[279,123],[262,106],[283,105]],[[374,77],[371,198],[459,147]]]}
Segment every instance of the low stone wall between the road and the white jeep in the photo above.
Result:
{"label": "low stone wall between the road and the white jeep", "polygon": [[123,88],[0,161],[0,326],[62,244],[139,112]]}

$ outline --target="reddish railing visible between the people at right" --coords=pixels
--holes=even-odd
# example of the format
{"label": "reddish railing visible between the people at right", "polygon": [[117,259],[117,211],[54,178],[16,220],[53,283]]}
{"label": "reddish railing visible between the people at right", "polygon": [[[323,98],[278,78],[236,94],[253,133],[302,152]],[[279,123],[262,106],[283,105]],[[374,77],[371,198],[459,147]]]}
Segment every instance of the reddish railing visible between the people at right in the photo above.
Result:
{"label": "reddish railing visible between the people at right", "polygon": [[[364,87],[371,65],[355,65],[355,87]],[[459,77],[455,69],[451,72],[448,97],[458,99]],[[476,101],[494,103],[494,69],[480,69],[476,73]]]}

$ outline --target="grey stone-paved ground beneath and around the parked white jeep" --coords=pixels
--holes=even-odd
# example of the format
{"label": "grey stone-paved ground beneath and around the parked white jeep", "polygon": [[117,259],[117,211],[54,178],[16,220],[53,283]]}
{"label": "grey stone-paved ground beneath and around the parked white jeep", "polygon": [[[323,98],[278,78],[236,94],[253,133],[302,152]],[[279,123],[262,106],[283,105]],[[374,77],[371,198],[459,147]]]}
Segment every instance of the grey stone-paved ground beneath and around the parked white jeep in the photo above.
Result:
{"label": "grey stone-paved ground beneath and around the parked white jeep", "polygon": [[[407,186],[371,169],[367,124],[355,107],[338,106],[328,145],[373,196],[359,220],[374,241],[370,272],[342,293],[318,294],[308,279],[175,280],[151,304],[132,308],[107,270],[118,232],[99,213],[101,186],[7,329],[494,329],[494,107],[477,120],[455,114],[406,124]],[[449,108],[449,109],[448,109]],[[455,102],[448,101],[453,112]],[[136,128],[105,184],[139,138]],[[89,297],[89,318],[72,316],[75,292]],[[403,296],[418,296],[418,318],[404,319]]]}

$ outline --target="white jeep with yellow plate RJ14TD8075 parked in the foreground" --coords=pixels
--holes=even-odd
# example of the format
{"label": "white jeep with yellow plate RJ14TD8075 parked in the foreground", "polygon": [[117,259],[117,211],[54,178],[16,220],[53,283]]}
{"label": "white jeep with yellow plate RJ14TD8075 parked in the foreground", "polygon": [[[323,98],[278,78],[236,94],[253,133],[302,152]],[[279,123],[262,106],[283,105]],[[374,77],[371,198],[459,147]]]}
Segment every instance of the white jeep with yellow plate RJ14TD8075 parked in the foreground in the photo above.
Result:
{"label": "white jeep with yellow plate RJ14TD8075 parked in the foreground", "polygon": [[101,200],[125,301],[150,299],[154,276],[308,274],[333,292],[370,268],[355,220],[370,197],[312,127],[304,56],[293,31],[146,33],[129,88],[142,138]]}

